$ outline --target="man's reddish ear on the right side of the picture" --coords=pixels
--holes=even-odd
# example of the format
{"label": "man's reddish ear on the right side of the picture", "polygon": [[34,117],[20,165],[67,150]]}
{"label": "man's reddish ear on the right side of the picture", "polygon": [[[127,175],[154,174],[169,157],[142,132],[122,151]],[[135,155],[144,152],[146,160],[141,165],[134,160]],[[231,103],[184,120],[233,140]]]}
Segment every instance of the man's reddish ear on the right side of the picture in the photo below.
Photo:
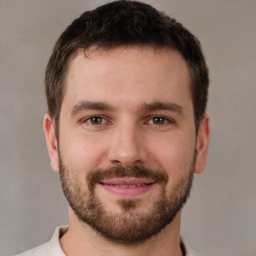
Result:
{"label": "man's reddish ear on the right side of the picture", "polygon": [[200,127],[197,133],[197,144],[196,144],[196,162],[195,162],[195,173],[200,173],[203,171],[206,165],[208,145],[210,138],[210,124],[209,115],[204,114]]}

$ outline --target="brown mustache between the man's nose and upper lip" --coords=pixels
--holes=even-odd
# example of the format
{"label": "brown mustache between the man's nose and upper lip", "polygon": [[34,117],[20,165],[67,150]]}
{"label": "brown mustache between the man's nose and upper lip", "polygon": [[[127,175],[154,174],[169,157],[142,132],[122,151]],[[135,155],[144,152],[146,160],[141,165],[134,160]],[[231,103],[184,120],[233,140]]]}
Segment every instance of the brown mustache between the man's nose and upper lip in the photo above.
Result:
{"label": "brown mustache between the man's nose and upper lip", "polygon": [[116,165],[105,169],[98,168],[90,171],[87,175],[88,188],[92,190],[94,185],[103,179],[123,177],[147,178],[163,184],[166,184],[169,180],[167,173],[163,169],[150,169],[136,165],[126,168],[122,165]]}

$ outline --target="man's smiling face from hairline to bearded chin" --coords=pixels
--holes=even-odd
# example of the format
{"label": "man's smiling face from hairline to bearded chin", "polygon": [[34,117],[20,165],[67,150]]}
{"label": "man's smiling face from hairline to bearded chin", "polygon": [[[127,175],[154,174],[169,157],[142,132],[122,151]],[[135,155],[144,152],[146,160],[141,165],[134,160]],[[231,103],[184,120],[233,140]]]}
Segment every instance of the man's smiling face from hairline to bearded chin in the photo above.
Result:
{"label": "man's smiling face from hairline to bearded chin", "polygon": [[77,217],[108,240],[160,232],[202,169],[188,77],[178,52],[147,47],[69,64],[51,165]]}

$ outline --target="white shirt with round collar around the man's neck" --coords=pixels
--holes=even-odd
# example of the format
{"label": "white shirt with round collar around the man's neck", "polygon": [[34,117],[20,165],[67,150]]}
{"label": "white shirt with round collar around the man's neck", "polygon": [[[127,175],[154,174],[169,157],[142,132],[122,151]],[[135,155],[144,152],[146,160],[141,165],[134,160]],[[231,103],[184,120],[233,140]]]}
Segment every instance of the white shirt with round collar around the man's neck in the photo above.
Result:
{"label": "white shirt with round collar around the man's neck", "polygon": [[[15,256],[66,256],[59,244],[59,237],[68,229],[68,226],[59,226],[55,229],[53,236],[48,242],[45,242],[33,249],[27,250]],[[202,256],[190,249],[185,239],[180,236],[181,246],[184,248],[185,256]]]}

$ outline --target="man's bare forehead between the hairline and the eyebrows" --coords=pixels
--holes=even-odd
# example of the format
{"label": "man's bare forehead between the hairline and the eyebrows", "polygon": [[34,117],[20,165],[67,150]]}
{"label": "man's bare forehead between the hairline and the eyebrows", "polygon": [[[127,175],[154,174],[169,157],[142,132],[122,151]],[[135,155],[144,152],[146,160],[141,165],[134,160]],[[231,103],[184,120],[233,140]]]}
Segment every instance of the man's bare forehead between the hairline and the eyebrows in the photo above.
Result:
{"label": "man's bare forehead between the hairline and the eyebrows", "polygon": [[70,104],[108,100],[126,107],[170,100],[180,104],[175,101],[184,99],[191,103],[188,68],[181,54],[135,46],[78,52],[69,62],[63,97]]}

